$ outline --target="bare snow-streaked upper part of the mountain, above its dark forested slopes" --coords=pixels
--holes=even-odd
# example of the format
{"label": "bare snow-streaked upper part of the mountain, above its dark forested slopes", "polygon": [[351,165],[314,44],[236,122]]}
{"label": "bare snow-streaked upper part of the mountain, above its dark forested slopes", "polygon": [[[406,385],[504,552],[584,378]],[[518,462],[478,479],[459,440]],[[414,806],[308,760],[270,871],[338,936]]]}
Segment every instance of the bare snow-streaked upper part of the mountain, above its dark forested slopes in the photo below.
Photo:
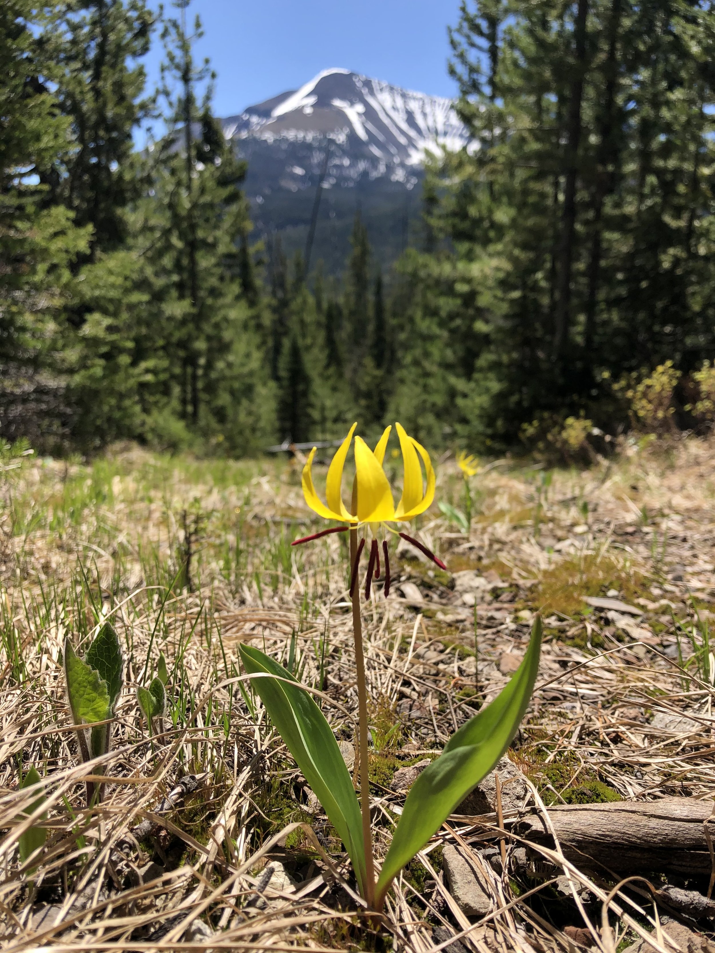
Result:
{"label": "bare snow-streaked upper part of the mountain, above its dark forested slopes", "polygon": [[365,174],[410,188],[426,152],[460,149],[468,141],[451,100],[340,69],[323,70],[299,90],[224,119],[223,129],[249,161],[276,153],[277,146],[286,161],[276,184],[291,190],[322,171],[326,148],[323,188]]}

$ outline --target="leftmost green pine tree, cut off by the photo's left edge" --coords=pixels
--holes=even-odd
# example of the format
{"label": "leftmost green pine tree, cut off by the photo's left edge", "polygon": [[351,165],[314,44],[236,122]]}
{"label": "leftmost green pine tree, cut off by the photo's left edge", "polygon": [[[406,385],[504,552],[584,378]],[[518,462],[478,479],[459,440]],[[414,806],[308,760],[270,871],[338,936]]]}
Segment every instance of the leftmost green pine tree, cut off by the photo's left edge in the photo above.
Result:
{"label": "leftmost green pine tree, cut off by the photo's left edge", "polygon": [[52,448],[67,422],[54,360],[57,322],[87,229],[47,205],[37,185],[67,150],[67,123],[51,92],[53,63],[26,0],[0,7],[0,436]]}

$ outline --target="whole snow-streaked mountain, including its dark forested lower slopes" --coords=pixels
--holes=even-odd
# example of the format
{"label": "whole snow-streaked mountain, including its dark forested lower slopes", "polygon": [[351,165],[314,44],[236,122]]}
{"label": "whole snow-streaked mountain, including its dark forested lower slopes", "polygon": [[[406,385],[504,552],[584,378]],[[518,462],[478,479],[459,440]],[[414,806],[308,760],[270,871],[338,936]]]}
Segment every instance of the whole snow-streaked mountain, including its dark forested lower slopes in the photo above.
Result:
{"label": "whole snow-streaked mountain, including its dark forested lower slopes", "polygon": [[[375,253],[387,265],[419,245],[419,184],[427,152],[468,143],[451,100],[402,90],[349,70],[324,70],[221,120],[238,155],[254,236],[284,253],[305,253],[317,214],[312,262],[339,274],[359,210]],[[321,185],[319,201],[317,187]]]}

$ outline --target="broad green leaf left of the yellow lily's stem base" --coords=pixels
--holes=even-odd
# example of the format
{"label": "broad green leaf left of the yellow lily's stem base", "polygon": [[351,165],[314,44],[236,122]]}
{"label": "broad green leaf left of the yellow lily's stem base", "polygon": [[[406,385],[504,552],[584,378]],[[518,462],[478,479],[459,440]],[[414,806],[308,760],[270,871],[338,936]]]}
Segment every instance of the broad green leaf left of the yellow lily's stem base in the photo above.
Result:
{"label": "broad green leaf left of the yellow lily's stem base", "polygon": [[252,645],[239,645],[238,651],[250,675],[267,672],[287,679],[254,679],[253,687],[345,844],[364,896],[365,851],[358,796],[330,725],[287,669]]}

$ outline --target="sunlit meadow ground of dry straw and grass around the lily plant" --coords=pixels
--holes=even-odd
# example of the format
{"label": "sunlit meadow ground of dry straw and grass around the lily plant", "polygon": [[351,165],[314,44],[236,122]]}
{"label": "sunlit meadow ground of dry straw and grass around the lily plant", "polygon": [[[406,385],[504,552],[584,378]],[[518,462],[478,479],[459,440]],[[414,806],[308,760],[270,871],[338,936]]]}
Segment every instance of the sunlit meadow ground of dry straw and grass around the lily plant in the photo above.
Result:
{"label": "sunlit meadow ground of dry straw and grass around the lily plant", "polygon": [[[403,797],[390,789],[395,770],[437,753],[496,695],[537,610],[546,633],[540,678],[512,757],[544,801],[715,793],[711,760],[698,754],[712,745],[714,449],[695,439],[643,450],[634,442],[584,471],[494,461],[471,481],[469,533],[439,509],[442,502],[464,510],[454,458],[439,459],[436,504],[415,529],[449,572],[400,548],[393,593],[385,600],[378,585],[364,611],[378,854],[389,842],[390,806]],[[396,496],[397,462],[389,464]],[[345,539],[290,545],[324,525],[303,503],[299,462],[124,448],[90,464],[6,454],[3,466],[3,945],[223,948],[211,929],[232,948],[426,950],[440,942],[436,925],[445,936],[459,930],[439,875],[445,831],[429,860],[420,855],[398,882],[389,927],[360,925],[348,895],[318,876],[323,864],[299,830],[272,855],[295,886],[256,902],[265,859],[251,859],[292,821],[310,822],[344,863],[265,712],[231,680],[240,674],[236,644],[251,639],[342,708],[357,709]],[[318,482],[324,473],[317,468]],[[479,578],[454,575],[469,570]],[[609,614],[582,598],[607,594],[643,615]],[[81,650],[103,619],[124,647],[125,688],[107,769],[114,781],[101,809],[88,814],[58,659],[66,636]],[[160,650],[170,710],[165,734],[152,738],[135,688],[152,678]],[[608,650],[615,651],[603,655]],[[568,674],[587,659],[594,660]],[[656,718],[684,709],[702,715],[701,732],[684,737]],[[323,710],[337,737],[351,742],[341,708],[326,700]],[[31,764],[47,776],[51,828],[33,872],[19,869],[13,833],[18,772]],[[198,788],[169,816],[170,827],[127,841],[190,774]],[[473,833],[462,830],[467,842]],[[514,890],[518,884],[495,882],[500,903]],[[502,946],[523,949],[527,930],[537,948],[570,948],[560,929],[578,922],[575,912],[559,907],[555,932],[544,932],[525,905],[515,916],[503,912],[463,943],[483,950],[496,930]]]}

